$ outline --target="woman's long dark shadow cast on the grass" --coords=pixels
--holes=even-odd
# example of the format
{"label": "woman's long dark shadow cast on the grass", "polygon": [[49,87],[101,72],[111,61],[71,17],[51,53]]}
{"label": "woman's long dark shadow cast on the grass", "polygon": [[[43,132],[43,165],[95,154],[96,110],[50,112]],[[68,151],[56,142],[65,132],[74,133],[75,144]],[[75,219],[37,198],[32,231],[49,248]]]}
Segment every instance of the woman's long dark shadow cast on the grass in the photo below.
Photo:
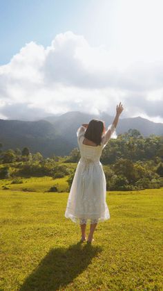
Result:
{"label": "woman's long dark shadow cast on the grass", "polygon": [[102,247],[91,244],[72,244],[68,249],[50,249],[37,268],[26,278],[19,291],[49,291],[66,288],[79,274],[84,272],[93,257]]}

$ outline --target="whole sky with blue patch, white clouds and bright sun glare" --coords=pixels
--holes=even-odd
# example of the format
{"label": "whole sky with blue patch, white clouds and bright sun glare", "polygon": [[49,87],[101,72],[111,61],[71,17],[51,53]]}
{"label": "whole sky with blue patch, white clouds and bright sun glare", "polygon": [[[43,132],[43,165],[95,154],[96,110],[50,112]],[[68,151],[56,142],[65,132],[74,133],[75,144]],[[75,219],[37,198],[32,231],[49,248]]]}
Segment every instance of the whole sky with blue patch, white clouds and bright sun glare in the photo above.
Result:
{"label": "whole sky with blue patch, white clouds and bright sun glare", "polygon": [[0,118],[163,122],[162,0],[0,0]]}

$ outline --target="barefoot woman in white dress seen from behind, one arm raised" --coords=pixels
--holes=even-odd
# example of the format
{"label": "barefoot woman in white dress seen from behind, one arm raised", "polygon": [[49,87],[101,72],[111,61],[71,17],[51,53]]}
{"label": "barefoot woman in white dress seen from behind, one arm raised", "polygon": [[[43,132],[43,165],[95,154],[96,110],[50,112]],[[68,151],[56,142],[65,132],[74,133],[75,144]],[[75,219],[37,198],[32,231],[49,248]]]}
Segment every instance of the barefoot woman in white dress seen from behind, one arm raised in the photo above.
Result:
{"label": "barefoot woman in white dress seen from behind, one arm raised", "polygon": [[65,217],[79,223],[81,242],[86,241],[86,223],[90,223],[87,242],[93,242],[93,233],[98,222],[110,218],[106,204],[106,177],[99,158],[110,138],[117,138],[115,128],[122,113],[121,102],[116,108],[113,124],[108,126],[101,120],[92,119],[77,129],[77,141],[81,158],[68,195]]}

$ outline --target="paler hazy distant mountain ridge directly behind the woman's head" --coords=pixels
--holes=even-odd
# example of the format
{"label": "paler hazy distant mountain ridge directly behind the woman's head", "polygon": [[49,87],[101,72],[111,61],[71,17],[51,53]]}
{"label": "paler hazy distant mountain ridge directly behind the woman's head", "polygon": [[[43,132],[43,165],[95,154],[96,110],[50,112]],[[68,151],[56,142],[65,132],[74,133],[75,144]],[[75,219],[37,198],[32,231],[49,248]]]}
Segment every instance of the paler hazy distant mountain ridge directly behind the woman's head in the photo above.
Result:
{"label": "paler hazy distant mountain ridge directly behind the woman's head", "polygon": [[[100,115],[91,115],[88,113],[81,113],[79,111],[71,111],[58,116],[55,119],[48,119],[56,128],[56,131],[60,135],[64,135],[66,139],[68,137],[76,137],[76,131],[81,124],[90,122],[91,119],[101,119],[104,120],[106,126],[113,122],[114,117],[102,112]],[[117,124],[117,134],[124,133],[130,128],[136,128],[144,137],[155,134],[163,135],[163,124],[151,122],[148,119],[142,117],[132,117],[132,118],[119,118],[119,123]]]}

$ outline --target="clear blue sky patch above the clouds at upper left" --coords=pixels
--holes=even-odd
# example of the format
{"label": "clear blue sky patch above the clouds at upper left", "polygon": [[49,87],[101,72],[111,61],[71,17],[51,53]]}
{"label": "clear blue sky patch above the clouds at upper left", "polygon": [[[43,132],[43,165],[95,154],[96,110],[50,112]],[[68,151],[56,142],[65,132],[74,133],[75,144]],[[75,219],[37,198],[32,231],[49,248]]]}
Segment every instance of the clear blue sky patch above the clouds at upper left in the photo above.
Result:
{"label": "clear blue sky patch above the clouds at upper left", "polygon": [[82,33],[79,18],[88,1],[1,0],[0,61],[10,58],[31,40],[47,46],[57,33]]}

